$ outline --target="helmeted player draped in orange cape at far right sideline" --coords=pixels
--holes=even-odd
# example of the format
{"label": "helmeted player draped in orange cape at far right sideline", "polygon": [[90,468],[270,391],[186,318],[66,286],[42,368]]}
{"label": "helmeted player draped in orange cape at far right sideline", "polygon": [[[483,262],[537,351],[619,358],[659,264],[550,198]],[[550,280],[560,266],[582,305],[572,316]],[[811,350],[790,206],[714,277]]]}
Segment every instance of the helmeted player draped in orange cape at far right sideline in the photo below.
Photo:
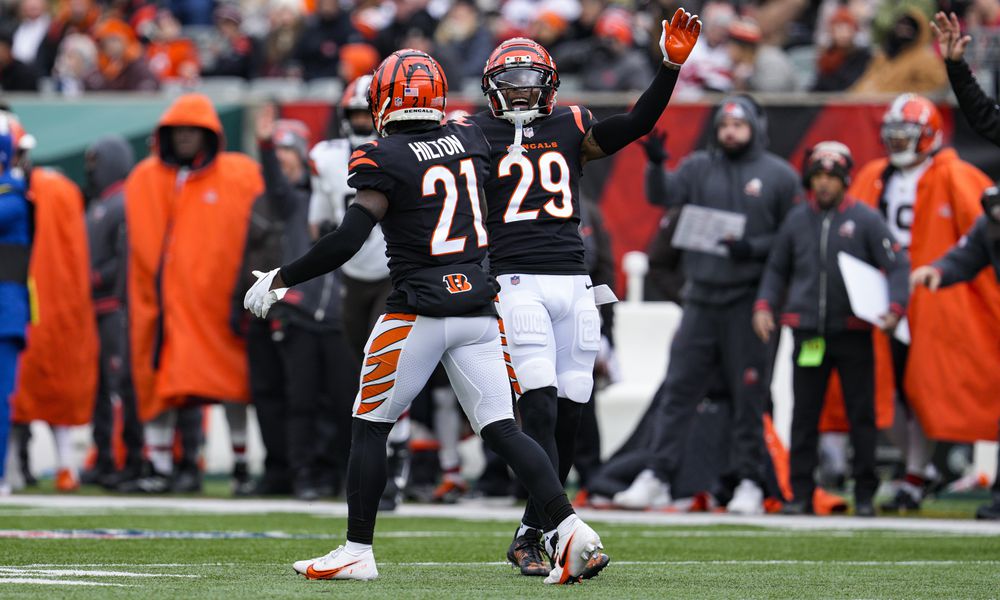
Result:
{"label": "helmeted player draped in orange cape at far right sideline", "polygon": [[[909,248],[914,269],[930,264],[969,230],[992,181],[942,148],[942,118],[926,98],[903,94],[883,118],[888,158],[858,172],[848,193],[878,208]],[[1000,290],[981,274],[931,294],[917,290],[908,310],[911,343],[891,341],[897,398],[890,438],[906,455],[906,479],[882,510],[917,510],[930,462],[928,440],[996,439],[987,418],[1000,389]],[[881,353],[882,360],[889,360]]]}

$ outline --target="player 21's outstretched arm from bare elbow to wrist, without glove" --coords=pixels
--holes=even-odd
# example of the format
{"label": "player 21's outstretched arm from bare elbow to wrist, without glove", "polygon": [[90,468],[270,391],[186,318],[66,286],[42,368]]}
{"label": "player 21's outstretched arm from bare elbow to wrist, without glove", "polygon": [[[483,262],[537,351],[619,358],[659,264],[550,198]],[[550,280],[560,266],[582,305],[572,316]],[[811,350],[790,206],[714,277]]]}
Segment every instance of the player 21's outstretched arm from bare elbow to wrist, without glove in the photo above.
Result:
{"label": "player 21's outstretched arm from bare elbow to wrist, without glove", "polygon": [[361,249],[388,208],[389,200],[382,192],[358,190],[340,225],[300,258],[281,267],[271,289],[293,286],[340,268]]}

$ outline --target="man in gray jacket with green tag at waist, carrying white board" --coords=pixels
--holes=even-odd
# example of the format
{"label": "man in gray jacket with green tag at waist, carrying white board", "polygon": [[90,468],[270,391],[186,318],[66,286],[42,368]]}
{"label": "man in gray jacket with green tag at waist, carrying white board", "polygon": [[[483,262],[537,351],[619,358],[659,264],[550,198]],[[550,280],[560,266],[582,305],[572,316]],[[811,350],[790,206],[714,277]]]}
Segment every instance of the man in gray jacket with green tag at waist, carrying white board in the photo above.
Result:
{"label": "man in gray jacket with green tag at waist, carrying white board", "polygon": [[753,327],[765,343],[781,322],[792,328],[791,483],[794,499],[787,514],[813,512],[820,414],[830,373],[837,369],[851,424],[854,449],[855,514],[875,516],[875,354],[871,325],[854,315],[843,274],[841,253],[885,272],[889,308],[879,327],[891,333],[906,314],[910,260],[881,215],[845,195],[853,166],[851,151],[840,142],[820,142],[807,154],[803,179],[809,202],[796,206],[778,231],[754,305]]}

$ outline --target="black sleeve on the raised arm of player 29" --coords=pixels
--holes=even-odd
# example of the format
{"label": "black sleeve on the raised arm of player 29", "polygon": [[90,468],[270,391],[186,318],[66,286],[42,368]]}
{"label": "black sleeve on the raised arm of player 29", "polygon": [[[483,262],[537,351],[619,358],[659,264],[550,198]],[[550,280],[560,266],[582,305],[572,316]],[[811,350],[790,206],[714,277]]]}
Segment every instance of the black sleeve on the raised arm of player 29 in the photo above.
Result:
{"label": "black sleeve on the raised arm of player 29", "polygon": [[614,115],[594,125],[594,140],[605,154],[614,154],[653,130],[670,102],[677,84],[678,69],[660,66],[653,83],[635,101],[632,110]]}

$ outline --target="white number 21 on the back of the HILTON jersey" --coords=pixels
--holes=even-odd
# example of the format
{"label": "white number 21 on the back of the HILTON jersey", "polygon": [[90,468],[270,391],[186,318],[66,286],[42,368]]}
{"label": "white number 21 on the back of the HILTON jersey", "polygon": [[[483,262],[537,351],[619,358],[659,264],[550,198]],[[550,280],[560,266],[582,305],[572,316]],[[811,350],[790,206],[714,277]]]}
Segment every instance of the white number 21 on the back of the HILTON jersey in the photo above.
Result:
{"label": "white number 21 on the back of the HILTON jersey", "polygon": [[[465,196],[472,207],[472,225],[476,230],[476,244],[482,248],[487,244],[486,228],[483,227],[483,212],[479,206],[479,181],[476,179],[476,167],[471,158],[463,159],[459,164],[459,176],[465,178]],[[458,208],[458,182],[451,169],[444,165],[434,165],[424,173],[422,184],[423,195],[436,196],[438,183],[444,186],[444,201],[441,204],[441,215],[437,226],[431,235],[431,255],[456,254],[465,251],[465,238],[451,237],[455,221],[455,210]]]}

